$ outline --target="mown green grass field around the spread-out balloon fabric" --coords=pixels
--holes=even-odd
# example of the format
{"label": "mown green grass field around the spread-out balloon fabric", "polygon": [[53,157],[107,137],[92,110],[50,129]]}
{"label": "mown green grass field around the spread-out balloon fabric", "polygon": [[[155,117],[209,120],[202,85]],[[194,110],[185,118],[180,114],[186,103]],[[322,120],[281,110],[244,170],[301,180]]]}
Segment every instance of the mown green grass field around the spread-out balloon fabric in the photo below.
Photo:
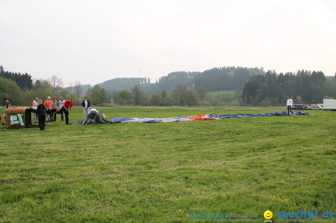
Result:
{"label": "mown green grass field around the spread-out balloon fabric", "polygon": [[[265,110],[101,108],[108,119]],[[336,112],[0,133],[0,222],[190,222],[336,211]],[[313,115],[312,115],[313,114]],[[74,108],[70,122],[83,118]],[[216,219],[210,218],[212,222]],[[238,218],[237,218],[238,219]]]}

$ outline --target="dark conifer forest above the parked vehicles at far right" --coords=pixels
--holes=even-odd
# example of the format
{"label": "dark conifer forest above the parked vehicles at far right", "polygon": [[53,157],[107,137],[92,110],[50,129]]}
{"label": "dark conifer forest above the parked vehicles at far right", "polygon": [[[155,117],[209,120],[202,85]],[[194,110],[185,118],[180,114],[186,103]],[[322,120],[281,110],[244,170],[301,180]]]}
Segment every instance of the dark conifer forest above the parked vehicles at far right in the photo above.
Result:
{"label": "dark conifer forest above the parked vehicles at far right", "polygon": [[336,78],[326,81],[322,71],[299,70],[277,75],[252,76],[245,84],[242,99],[248,105],[281,105],[291,96],[295,104],[322,103],[323,98],[336,98]]}

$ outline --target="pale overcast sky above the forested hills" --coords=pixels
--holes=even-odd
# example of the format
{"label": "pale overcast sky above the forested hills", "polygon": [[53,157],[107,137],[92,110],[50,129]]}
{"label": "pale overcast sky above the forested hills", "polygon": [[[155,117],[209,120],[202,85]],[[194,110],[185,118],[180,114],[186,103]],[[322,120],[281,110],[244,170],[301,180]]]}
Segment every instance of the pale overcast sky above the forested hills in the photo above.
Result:
{"label": "pale overcast sky above the forested hills", "polygon": [[0,65],[66,85],[220,66],[336,72],[336,1],[0,0]]}

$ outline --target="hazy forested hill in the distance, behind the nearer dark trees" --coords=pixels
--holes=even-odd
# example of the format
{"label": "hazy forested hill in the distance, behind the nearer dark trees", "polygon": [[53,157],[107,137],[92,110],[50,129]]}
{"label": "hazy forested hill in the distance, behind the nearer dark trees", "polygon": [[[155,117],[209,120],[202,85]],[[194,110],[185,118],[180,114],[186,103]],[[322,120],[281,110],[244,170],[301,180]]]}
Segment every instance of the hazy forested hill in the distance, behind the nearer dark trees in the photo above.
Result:
{"label": "hazy forested hill in the distance, behind the nearer dark trees", "polygon": [[263,68],[219,67],[203,72],[176,71],[162,76],[154,83],[148,78],[114,78],[98,84],[106,90],[131,90],[135,83],[141,83],[141,89],[148,94],[158,90],[170,91],[176,85],[186,86],[192,90],[205,88],[207,91],[242,89],[251,76],[265,74]]}

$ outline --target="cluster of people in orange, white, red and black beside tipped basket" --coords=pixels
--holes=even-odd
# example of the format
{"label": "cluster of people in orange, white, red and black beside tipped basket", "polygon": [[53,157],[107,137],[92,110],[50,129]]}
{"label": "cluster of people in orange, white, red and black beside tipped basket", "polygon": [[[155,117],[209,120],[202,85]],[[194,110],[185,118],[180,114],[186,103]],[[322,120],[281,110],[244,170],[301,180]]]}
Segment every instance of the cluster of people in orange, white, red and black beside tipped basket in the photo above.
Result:
{"label": "cluster of people in orange, white, red and black beside tipped basket", "polygon": [[57,101],[55,96],[52,100],[51,97],[48,96],[47,100],[44,101],[43,104],[42,100],[39,100],[39,98],[36,97],[35,100],[33,100],[33,109],[36,110],[37,113],[36,115],[34,114],[33,123],[38,122],[40,130],[44,130],[46,114],[48,114],[49,117],[53,117],[54,121],[56,121],[56,114],[60,114],[61,120],[63,121],[65,116],[66,124],[71,125],[71,123],[69,123],[69,114],[71,114],[71,108],[74,106],[73,101],[73,98],[70,100],[64,100],[63,97],[60,97],[58,101],[59,110],[57,111]]}

